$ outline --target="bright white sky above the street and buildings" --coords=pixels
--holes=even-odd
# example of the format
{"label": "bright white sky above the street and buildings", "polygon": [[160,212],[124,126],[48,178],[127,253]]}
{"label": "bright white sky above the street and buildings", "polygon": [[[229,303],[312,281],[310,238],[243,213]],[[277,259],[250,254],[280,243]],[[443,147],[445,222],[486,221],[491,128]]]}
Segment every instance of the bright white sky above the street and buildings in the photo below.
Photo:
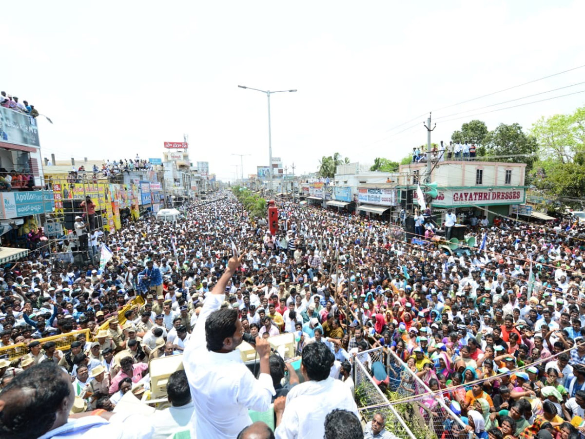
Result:
{"label": "bright white sky above the street and buildings", "polygon": [[[398,160],[426,143],[428,111],[438,142],[471,118],[448,119],[585,90],[449,116],[583,82],[580,68],[444,108],[585,64],[583,16],[582,1],[8,2],[0,88],[53,120],[39,122],[45,157],[161,157],[187,133],[191,161],[224,180],[231,153],[251,154],[246,175],[268,163],[266,96],[238,84],[296,88],[271,115],[273,156],[298,174],[334,152]],[[476,118],[529,128],[584,101]]]}

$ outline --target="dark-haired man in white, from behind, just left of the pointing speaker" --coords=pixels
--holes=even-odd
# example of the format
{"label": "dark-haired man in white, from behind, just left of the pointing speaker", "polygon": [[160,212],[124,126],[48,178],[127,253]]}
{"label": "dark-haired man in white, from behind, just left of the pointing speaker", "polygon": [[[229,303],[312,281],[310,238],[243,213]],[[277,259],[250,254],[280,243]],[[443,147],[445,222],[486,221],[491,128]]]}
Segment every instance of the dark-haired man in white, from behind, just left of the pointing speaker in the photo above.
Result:
{"label": "dark-haired man in white, from behind, just left of the pointing speaker", "polygon": [[153,439],[167,439],[174,433],[190,430],[190,420],[195,416],[195,406],[185,371],[171,373],[167,382],[168,409],[156,410],[153,414]]}

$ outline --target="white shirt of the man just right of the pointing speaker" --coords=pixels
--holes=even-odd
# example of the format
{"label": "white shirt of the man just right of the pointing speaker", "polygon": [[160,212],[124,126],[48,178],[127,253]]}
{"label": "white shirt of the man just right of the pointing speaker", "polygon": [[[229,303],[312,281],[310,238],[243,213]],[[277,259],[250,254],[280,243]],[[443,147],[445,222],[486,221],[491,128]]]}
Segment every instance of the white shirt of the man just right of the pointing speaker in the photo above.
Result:
{"label": "white shirt of the man just right of the pointing speaker", "polygon": [[356,402],[346,383],[331,377],[308,381],[292,387],[287,395],[277,439],[313,439],[324,437],[325,416],[333,409],[357,414]]}

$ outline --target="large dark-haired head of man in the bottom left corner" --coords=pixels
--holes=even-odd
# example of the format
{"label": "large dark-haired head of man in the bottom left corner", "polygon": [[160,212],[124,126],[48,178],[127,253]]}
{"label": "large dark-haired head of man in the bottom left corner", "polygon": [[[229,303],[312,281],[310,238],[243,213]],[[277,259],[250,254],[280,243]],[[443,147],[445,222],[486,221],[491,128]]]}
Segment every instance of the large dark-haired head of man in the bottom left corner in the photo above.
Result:
{"label": "large dark-haired head of man in the bottom left corner", "polygon": [[18,373],[0,393],[5,403],[0,412],[0,437],[28,439],[47,433],[70,392],[70,380],[53,362]]}

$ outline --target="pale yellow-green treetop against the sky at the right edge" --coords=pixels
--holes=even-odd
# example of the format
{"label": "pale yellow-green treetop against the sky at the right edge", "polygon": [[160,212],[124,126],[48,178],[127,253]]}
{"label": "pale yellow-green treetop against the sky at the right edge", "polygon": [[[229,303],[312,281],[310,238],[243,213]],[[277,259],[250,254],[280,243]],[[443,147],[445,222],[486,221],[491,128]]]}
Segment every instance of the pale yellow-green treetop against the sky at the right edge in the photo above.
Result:
{"label": "pale yellow-green treetop against the sky at the right edge", "polygon": [[572,162],[585,145],[585,107],[577,108],[573,114],[542,117],[532,125],[531,133],[543,158]]}

